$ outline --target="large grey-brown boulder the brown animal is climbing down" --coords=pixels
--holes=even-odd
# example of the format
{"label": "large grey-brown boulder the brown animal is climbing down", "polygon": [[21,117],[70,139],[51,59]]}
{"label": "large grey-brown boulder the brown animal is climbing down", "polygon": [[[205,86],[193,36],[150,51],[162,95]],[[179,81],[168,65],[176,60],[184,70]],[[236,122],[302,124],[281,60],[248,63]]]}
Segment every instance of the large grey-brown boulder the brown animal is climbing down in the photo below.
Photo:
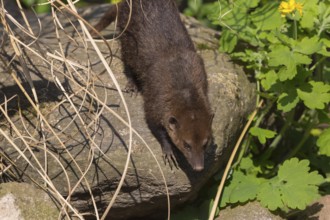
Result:
{"label": "large grey-brown boulder the brown animal is climbing down", "polygon": [[[103,5],[84,9],[79,14],[95,24],[106,10],[107,6]],[[95,214],[95,210],[102,213],[122,176],[129,143],[129,129],[114,114],[125,120],[127,116],[114,82],[104,71],[91,44],[81,38],[83,35],[77,19],[66,13],[57,13],[57,16],[63,27],[61,29],[57,25],[58,38],[53,18],[49,15],[41,16],[42,30],[38,29],[37,19],[29,17],[35,35],[39,36],[36,41],[17,28],[14,29],[16,35],[26,44],[29,43],[35,52],[23,48],[24,59],[15,57],[11,69],[4,68],[4,65],[0,67],[1,72],[4,72],[1,73],[0,87],[7,97],[6,102],[1,95],[0,103],[6,102],[7,113],[10,115],[10,120],[1,116],[1,129],[6,136],[0,136],[0,152],[15,161],[17,169],[13,172],[24,181],[30,182],[32,179],[43,184],[46,177],[42,177],[41,169],[47,164],[47,174],[53,184],[50,192],[57,190],[63,198],[69,197],[70,203],[80,213]],[[160,168],[143,142],[134,134],[130,165],[124,185],[110,210],[111,219],[155,213],[166,216],[166,190],[160,169],[166,179],[172,209],[194,199],[199,189],[228,160],[247,115],[255,106],[254,86],[241,68],[232,64],[226,55],[217,52],[216,36],[219,33],[202,27],[194,19],[184,20],[196,47],[203,48],[199,52],[205,61],[209,97],[215,113],[214,145],[207,150],[205,170],[194,172],[178,152],[179,169],[164,165],[159,143],[144,121],[141,96],[124,94],[132,126],[148,143]],[[72,24],[77,27],[79,34]],[[111,26],[102,34],[109,37],[113,29],[114,26]],[[107,61],[111,62],[110,67],[123,88],[126,79],[119,59],[120,48],[117,41],[109,44],[112,59],[104,42],[99,42],[98,46]],[[6,42],[0,56],[7,63],[13,58],[14,52],[9,42]],[[65,63],[55,56],[65,57],[71,62]],[[30,76],[24,73],[22,60]],[[19,76],[27,94],[33,97],[27,80],[31,77],[45,119],[42,125],[36,110],[10,73]],[[65,92],[55,78],[61,82]],[[13,95],[16,98],[8,101]],[[15,110],[18,102],[20,114]],[[55,198],[60,199],[60,195]]]}

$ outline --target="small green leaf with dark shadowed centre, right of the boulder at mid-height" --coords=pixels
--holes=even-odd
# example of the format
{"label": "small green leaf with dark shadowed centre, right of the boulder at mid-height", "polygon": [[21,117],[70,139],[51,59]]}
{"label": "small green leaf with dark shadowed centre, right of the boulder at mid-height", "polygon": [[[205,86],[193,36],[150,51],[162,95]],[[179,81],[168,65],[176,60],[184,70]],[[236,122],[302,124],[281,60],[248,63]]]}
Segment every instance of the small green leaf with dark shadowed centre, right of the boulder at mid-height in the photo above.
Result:
{"label": "small green leaf with dark shadowed centre, right of the boulder at mid-height", "polygon": [[297,90],[295,88],[289,88],[287,92],[283,92],[277,100],[277,109],[283,112],[289,112],[299,102]]}

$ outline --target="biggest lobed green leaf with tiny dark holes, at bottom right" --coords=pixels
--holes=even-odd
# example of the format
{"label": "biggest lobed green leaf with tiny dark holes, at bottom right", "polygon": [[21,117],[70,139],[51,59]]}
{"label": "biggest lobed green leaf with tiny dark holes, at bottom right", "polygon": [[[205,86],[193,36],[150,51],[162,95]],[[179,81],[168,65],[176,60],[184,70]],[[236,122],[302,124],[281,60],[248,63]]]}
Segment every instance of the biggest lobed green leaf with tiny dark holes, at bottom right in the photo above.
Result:
{"label": "biggest lobed green leaf with tiny dark holes, at bottom right", "polygon": [[305,209],[320,196],[318,185],[324,181],[321,175],[309,169],[308,160],[286,160],[279,167],[278,176],[261,185],[258,200],[270,210]]}

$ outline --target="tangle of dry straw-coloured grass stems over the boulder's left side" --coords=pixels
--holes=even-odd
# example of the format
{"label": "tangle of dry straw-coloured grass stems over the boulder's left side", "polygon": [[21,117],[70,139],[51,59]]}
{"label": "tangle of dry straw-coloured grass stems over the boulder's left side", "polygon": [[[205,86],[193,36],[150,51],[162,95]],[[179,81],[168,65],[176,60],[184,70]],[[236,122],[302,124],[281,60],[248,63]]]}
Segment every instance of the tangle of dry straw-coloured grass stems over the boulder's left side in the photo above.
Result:
{"label": "tangle of dry straw-coloured grass stems over the boulder's left side", "polygon": [[[105,219],[131,168],[132,142],[136,138],[148,149],[159,168],[167,194],[169,219],[170,199],[166,178],[156,155],[132,127],[130,109],[110,66],[112,51],[107,40],[101,36],[109,51],[109,59],[109,54],[101,52],[97,41],[91,36],[89,30],[93,30],[92,25],[76,9],[75,3],[78,1],[63,3],[60,0],[48,0],[42,3],[51,6],[49,16],[52,20],[47,25],[40,18],[41,15],[25,11],[20,1],[16,2],[21,18],[9,14],[3,1],[0,4],[0,22],[3,26],[0,29],[0,68],[4,71],[1,74],[6,77],[3,81],[0,78],[1,90],[4,91],[1,93],[3,98],[0,97],[0,141],[6,143],[6,149],[0,146],[0,183],[22,181],[18,174],[26,172],[24,181],[34,183],[54,199],[60,210],[58,219],[84,219],[85,215]],[[54,39],[51,44],[46,43],[49,38]],[[84,53],[86,59],[76,59],[76,51]],[[107,75],[96,73],[93,69],[95,63],[102,65]],[[53,86],[60,98],[50,99],[49,91],[38,87],[38,80],[46,81],[47,89]],[[109,83],[117,91],[116,95],[125,110],[124,115],[109,105],[109,96],[112,95]],[[9,87],[15,88],[16,93],[9,93]],[[121,176],[116,190],[105,211],[99,213],[101,208],[96,202],[95,186],[88,175],[94,169],[95,160],[101,157],[111,161],[98,139],[103,135],[100,124],[104,115],[111,115],[109,121],[117,120],[127,128],[128,137],[124,140],[127,145],[125,166],[118,171]],[[77,137],[84,142],[79,142]],[[78,144],[85,144],[82,150],[86,151],[87,157],[83,163],[74,149]],[[14,156],[8,156],[5,151],[10,151]],[[26,171],[20,168],[19,164],[22,163],[28,167]],[[55,174],[62,175],[65,193],[58,188],[53,178],[54,167],[60,173]],[[74,179],[71,168],[75,170]],[[90,213],[82,213],[72,205],[72,198],[81,188],[89,194],[92,206]]]}

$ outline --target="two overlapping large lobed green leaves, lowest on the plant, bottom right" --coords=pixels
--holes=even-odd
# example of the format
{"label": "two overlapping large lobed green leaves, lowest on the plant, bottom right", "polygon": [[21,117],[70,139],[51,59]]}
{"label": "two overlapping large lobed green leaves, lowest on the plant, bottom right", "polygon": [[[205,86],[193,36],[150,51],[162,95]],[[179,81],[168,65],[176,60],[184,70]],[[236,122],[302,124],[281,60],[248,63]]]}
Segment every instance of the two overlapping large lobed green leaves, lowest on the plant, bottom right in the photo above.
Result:
{"label": "two overlapping large lobed green leaves, lowest on the plant, bottom right", "polygon": [[273,211],[303,210],[320,196],[318,186],[324,182],[324,178],[316,171],[309,172],[308,160],[286,160],[272,178],[259,177],[262,170],[256,169],[250,158],[242,159],[241,164],[243,165],[235,169],[232,181],[224,190],[222,207],[227,203],[256,199]]}

